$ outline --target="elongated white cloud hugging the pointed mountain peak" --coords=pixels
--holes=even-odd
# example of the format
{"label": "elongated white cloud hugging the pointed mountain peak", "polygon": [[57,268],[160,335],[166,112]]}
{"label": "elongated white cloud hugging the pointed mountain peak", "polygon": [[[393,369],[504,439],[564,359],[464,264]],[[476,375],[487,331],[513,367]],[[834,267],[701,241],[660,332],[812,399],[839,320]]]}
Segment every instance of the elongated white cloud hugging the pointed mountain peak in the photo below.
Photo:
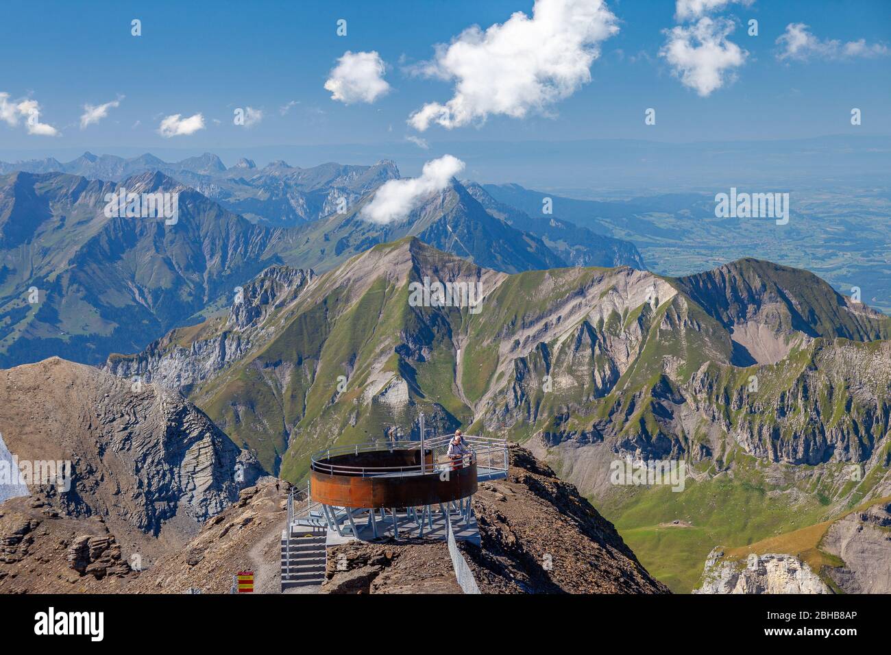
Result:
{"label": "elongated white cloud hugging the pointed mountain peak", "polygon": [[362,208],[360,216],[372,223],[387,224],[405,218],[432,193],[448,186],[464,169],[464,162],[444,155],[424,164],[420,177],[388,180],[374,192],[372,201]]}

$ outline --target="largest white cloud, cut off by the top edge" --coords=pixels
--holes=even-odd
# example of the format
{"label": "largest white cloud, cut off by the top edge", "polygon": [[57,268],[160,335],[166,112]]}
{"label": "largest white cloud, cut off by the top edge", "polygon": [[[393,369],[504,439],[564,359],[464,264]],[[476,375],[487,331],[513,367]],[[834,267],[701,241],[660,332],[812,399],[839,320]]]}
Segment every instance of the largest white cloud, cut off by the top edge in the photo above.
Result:
{"label": "largest white cloud, cut off by the top edge", "polygon": [[491,114],[544,111],[591,81],[601,42],[617,31],[603,0],[535,0],[532,18],[516,12],[485,31],[471,26],[413,67],[455,85],[451,100],[425,104],[408,122],[420,131],[431,123],[451,129]]}

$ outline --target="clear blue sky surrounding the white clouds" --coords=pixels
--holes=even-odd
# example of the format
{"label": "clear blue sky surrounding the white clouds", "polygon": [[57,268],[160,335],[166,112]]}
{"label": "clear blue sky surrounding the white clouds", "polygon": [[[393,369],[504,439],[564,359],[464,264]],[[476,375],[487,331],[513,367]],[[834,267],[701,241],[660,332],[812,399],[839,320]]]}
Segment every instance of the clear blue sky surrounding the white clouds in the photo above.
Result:
{"label": "clear blue sky surrounding the white clouds", "polygon": [[[545,0],[547,1],[547,0]],[[490,114],[462,127],[433,125],[422,134],[406,119],[428,102],[446,102],[454,80],[419,78],[406,67],[434,56],[463,29],[503,23],[533,3],[486,2],[51,2],[6,0],[0,56],[6,62],[0,94],[34,100],[40,121],[61,135],[29,134],[0,122],[0,159],[27,151],[238,151],[282,144],[342,145],[425,139],[431,152],[467,141],[566,141],[629,138],[669,142],[798,138],[815,135],[891,135],[891,3],[755,0],[715,12],[735,20],[729,37],[748,51],[733,80],[703,97],[684,86],[666,57],[665,30],[679,24],[670,0],[612,0],[617,35],[600,44],[591,81],[549,103],[542,115]],[[748,37],[749,19],[759,36]],[[143,35],[131,36],[131,20]],[[347,20],[347,36],[336,34]],[[778,61],[777,37],[805,23],[822,43],[805,61]],[[690,23],[687,23],[690,25]],[[864,39],[869,56],[833,55]],[[831,40],[840,45],[833,46]],[[829,44],[829,45],[826,45]],[[344,104],[323,88],[347,50],[380,53],[388,94]],[[81,129],[84,104],[119,106]],[[286,114],[281,108],[296,102]],[[253,127],[233,125],[235,108],[263,112]],[[657,110],[645,126],[643,112]],[[862,125],[850,125],[851,108]],[[165,138],[170,115],[200,113],[205,127]],[[219,123],[215,120],[220,121]],[[138,122],[137,122],[138,121]],[[855,130],[855,132],[852,132]],[[418,148],[419,154],[421,149]],[[310,164],[313,162],[300,162]]]}

